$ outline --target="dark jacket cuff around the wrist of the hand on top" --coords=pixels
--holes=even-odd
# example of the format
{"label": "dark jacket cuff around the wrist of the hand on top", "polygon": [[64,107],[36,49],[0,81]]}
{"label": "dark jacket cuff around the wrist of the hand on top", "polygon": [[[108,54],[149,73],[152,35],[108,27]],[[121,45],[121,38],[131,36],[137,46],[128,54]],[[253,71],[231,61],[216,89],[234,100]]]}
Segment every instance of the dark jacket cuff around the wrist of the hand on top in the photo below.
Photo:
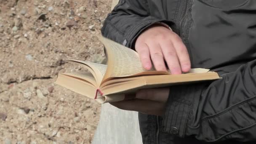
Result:
{"label": "dark jacket cuff around the wrist of the hand on top", "polygon": [[173,22],[165,20],[165,19],[157,19],[155,17],[148,16],[145,19],[133,24],[133,26],[131,26],[128,29],[128,32],[125,34],[125,38],[123,40],[123,45],[134,49],[135,41],[139,37],[139,35],[145,29],[147,29],[148,27],[152,26],[153,24],[157,24],[157,23],[164,23],[164,24],[168,25],[168,27],[170,27],[170,28],[173,24]]}

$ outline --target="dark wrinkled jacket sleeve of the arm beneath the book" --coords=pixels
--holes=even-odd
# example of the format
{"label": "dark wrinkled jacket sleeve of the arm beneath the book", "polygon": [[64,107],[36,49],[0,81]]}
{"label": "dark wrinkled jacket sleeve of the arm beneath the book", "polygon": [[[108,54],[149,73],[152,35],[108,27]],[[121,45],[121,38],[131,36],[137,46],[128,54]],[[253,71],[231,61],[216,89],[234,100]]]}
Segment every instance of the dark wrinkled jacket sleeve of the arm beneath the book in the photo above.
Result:
{"label": "dark wrinkled jacket sleeve of the arm beneath the book", "polygon": [[212,83],[172,87],[163,131],[201,141],[256,141],[256,60]]}

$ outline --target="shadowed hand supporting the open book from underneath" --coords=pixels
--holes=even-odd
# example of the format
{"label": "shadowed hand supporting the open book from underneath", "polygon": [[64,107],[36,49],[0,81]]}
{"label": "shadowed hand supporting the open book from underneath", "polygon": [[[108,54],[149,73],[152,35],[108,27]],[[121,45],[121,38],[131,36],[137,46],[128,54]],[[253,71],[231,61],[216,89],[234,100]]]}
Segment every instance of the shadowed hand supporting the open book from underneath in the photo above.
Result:
{"label": "shadowed hand supporting the open book from underneath", "polygon": [[135,99],[110,103],[113,106],[148,115],[163,115],[169,88],[145,89],[136,93]]}

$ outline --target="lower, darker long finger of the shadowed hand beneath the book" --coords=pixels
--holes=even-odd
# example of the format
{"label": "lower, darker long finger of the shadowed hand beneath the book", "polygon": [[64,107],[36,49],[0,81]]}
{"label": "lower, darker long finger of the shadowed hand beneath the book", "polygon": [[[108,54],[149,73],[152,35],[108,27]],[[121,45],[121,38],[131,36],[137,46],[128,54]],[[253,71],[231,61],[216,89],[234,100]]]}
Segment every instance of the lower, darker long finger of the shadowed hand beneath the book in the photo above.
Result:
{"label": "lower, darker long finger of the shadowed hand beneath the book", "polygon": [[113,106],[129,111],[142,112],[149,115],[163,115],[165,104],[157,101],[133,99],[110,103]]}

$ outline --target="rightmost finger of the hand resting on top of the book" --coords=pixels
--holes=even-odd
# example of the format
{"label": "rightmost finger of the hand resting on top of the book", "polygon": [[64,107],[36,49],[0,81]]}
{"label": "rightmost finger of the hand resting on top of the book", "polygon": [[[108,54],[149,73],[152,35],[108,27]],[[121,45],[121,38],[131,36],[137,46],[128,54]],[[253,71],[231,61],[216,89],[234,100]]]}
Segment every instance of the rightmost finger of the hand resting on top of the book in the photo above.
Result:
{"label": "rightmost finger of the hand resting on top of the book", "polygon": [[173,35],[172,41],[182,72],[189,72],[191,63],[186,46],[178,35]]}

